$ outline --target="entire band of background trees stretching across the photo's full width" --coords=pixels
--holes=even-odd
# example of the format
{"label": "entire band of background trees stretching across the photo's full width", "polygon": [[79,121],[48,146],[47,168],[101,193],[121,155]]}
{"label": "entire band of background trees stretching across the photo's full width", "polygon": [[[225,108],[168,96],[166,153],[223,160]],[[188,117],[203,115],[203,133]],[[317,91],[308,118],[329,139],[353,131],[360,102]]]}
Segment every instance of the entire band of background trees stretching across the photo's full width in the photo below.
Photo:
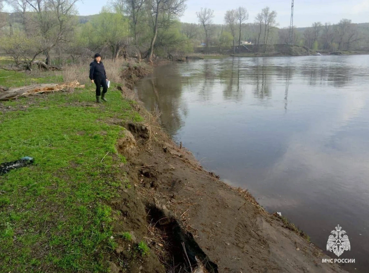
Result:
{"label": "entire band of background trees stretching across the photo's full width", "polygon": [[[0,51],[16,66],[35,59],[46,64],[78,62],[93,52],[112,59],[183,55],[194,49],[205,52],[240,51],[242,41],[267,52],[272,44],[286,44],[289,28],[279,28],[277,12],[265,7],[249,20],[245,7],[227,10],[224,24],[213,24],[214,11],[201,8],[198,23],[181,23],[186,0],[110,0],[99,14],[81,19],[79,0],[0,0],[12,13],[0,13]],[[351,20],[337,24],[313,23],[294,28],[293,43],[311,50],[349,50],[369,46],[369,30]]]}

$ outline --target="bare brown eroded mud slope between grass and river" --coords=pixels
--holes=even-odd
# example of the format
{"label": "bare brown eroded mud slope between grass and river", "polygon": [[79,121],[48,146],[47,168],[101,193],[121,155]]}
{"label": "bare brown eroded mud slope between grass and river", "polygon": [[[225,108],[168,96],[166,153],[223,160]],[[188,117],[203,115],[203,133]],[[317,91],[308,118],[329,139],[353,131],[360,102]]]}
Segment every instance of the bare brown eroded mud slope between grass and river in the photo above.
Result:
{"label": "bare brown eroded mud slope between grass and river", "polygon": [[[134,81],[125,73],[126,84],[118,89],[135,98],[134,83],[149,73],[135,70]],[[151,254],[131,260],[128,272],[346,272],[322,263],[328,256],[308,236],[266,212],[247,190],[204,170],[164,132],[159,115],[138,100],[133,104],[144,122],[112,120],[127,129],[117,148],[127,158],[120,168],[132,188],[110,205],[120,211],[115,233],[130,229]],[[109,258],[112,272],[126,272],[118,261],[129,257],[127,247],[118,242]]]}

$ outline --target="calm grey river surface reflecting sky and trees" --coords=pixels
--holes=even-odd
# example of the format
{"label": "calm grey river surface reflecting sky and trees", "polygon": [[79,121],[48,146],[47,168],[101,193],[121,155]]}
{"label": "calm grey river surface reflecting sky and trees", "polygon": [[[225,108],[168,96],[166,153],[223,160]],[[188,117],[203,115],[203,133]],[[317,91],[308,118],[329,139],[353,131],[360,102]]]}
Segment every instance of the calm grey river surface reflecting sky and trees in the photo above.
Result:
{"label": "calm grey river surface reflecting sky and trees", "polygon": [[369,55],[173,63],[137,90],[204,167],[320,248],[341,225],[343,268],[369,272]]}

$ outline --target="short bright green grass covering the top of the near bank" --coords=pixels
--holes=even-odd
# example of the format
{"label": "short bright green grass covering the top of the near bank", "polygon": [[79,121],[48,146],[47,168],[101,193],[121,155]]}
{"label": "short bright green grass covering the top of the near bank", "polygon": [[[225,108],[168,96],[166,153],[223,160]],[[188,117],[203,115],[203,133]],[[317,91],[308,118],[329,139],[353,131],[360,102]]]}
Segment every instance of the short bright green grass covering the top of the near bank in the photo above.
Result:
{"label": "short bright green grass covering the top of the near bank", "polygon": [[[31,77],[0,85],[53,81]],[[106,120],[142,118],[113,86],[106,97],[97,105],[93,90],[79,89],[0,102],[12,109],[0,110],[0,163],[35,159],[0,176],[1,273],[108,272],[104,255],[116,243],[106,201],[129,183],[120,180],[125,158],[115,149],[123,128]]]}

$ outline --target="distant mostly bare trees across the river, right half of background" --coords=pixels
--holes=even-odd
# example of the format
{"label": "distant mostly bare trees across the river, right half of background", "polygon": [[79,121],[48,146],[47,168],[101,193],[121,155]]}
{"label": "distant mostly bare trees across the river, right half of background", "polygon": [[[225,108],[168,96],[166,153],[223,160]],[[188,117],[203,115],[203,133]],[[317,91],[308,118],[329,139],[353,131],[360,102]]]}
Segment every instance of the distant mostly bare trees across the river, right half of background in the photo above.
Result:
{"label": "distant mostly bare trees across the river, right half of background", "polygon": [[[227,10],[224,24],[213,24],[214,11],[201,8],[197,13],[199,25],[183,24],[188,32],[204,33],[207,49],[210,46],[222,48],[227,45],[233,52],[240,50],[241,41],[254,44],[256,51],[266,52],[269,44],[288,44],[289,27],[279,28],[276,22],[277,12],[267,6],[247,22],[249,15],[244,7]],[[197,28],[197,29],[196,29]],[[201,31],[200,28],[203,30]],[[186,32],[186,34],[187,34]],[[187,37],[195,37],[191,34]],[[198,35],[197,37],[201,37]],[[369,48],[369,24],[354,24],[349,19],[342,19],[337,24],[314,22],[311,27],[293,28],[292,44],[305,46],[310,50],[351,50]],[[204,40],[204,39],[203,39]],[[235,45],[238,42],[238,46]],[[232,45],[231,45],[232,44]]]}

